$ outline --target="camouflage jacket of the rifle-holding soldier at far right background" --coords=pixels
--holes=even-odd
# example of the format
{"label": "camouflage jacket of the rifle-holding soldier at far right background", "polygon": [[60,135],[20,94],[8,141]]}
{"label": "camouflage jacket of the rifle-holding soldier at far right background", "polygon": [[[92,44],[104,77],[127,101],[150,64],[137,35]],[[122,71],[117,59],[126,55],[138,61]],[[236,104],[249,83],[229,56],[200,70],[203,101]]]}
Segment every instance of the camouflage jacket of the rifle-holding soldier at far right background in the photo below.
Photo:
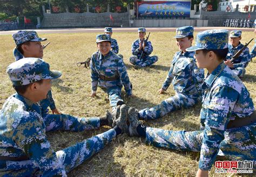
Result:
{"label": "camouflage jacket of the rifle-holding soldier at far right background", "polygon": [[[244,45],[242,45],[241,43],[239,43],[237,47],[233,47],[231,44],[228,44],[228,53],[227,53],[226,60],[230,60],[235,55],[235,53],[237,53],[240,49],[242,49],[243,46]],[[250,51],[248,47],[246,47],[244,51],[242,51],[240,56],[233,60],[234,67],[232,69],[235,69],[237,67],[245,68],[250,61],[251,61]]]}

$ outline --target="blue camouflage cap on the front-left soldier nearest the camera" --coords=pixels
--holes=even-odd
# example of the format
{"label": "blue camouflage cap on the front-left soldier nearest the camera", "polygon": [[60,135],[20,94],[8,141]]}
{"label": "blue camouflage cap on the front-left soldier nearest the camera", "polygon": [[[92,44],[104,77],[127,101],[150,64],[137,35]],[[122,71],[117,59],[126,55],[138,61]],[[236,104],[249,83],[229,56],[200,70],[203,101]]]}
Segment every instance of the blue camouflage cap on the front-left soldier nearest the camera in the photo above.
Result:
{"label": "blue camouflage cap on the front-left soldier nearest the camera", "polygon": [[39,58],[22,58],[10,64],[6,72],[15,86],[28,85],[42,79],[56,79],[62,76],[60,71],[49,70],[44,60]]}

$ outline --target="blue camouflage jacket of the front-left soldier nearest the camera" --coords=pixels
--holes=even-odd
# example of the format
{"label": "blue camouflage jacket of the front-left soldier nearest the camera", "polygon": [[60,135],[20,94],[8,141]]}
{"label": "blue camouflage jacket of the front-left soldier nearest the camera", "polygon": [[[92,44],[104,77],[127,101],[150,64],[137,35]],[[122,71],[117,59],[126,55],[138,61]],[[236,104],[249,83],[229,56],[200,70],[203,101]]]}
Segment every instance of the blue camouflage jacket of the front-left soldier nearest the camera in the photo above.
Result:
{"label": "blue camouflage jacket of the front-left soldier nearest the camera", "polygon": [[[15,162],[0,161],[0,171],[25,168],[26,163],[40,168],[43,176],[65,175],[62,162],[46,139],[45,124],[39,104],[19,94],[9,97],[0,114],[0,154],[2,156],[28,156],[22,167]],[[18,171],[17,171],[18,174]]]}

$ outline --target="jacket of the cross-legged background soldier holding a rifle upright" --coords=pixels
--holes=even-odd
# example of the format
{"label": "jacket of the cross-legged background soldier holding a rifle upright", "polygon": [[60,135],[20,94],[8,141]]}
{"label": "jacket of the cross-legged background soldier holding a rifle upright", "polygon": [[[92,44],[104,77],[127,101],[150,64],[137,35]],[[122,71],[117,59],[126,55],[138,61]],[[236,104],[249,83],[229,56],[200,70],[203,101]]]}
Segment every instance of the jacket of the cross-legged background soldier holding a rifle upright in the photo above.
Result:
{"label": "jacket of the cross-legged background soldier holding a rifle upright", "polygon": [[[143,51],[143,50],[139,50],[139,43],[140,43],[140,39],[134,40],[134,42],[132,43],[132,55],[137,56],[138,59],[142,55],[142,51]],[[151,42],[147,40],[147,44],[144,49],[144,56],[142,59],[143,60],[146,59],[152,52],[153,52],[153,46]]]}

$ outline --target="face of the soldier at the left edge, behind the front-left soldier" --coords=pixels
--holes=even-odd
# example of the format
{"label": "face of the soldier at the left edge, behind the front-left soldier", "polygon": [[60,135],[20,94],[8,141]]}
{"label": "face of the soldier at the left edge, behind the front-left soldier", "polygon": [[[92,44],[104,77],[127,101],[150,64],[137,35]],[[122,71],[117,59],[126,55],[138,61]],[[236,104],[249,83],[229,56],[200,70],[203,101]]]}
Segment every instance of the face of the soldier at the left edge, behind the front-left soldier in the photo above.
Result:
{"label": "face of the soldier at the left edge, behind the front-left soldier", "polygon": [[25,45],[23,48],[25,57],[43,58],[43,46],[41,42],[30,42],[30,45]]}

